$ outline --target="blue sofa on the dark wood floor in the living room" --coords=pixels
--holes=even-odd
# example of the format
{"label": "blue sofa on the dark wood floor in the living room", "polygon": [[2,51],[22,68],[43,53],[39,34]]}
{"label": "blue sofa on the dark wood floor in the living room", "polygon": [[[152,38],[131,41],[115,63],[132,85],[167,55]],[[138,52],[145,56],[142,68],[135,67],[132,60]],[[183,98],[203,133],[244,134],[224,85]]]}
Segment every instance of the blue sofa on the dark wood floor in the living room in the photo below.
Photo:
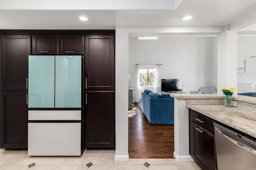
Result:
{"label": "blue sofa on the dark wood floor in the living room", "polygon": [[[150,91],[150,90],[148,90]],[[174,98],[170,94],[141,92],[140,107],[150,124],[174,124]]]}

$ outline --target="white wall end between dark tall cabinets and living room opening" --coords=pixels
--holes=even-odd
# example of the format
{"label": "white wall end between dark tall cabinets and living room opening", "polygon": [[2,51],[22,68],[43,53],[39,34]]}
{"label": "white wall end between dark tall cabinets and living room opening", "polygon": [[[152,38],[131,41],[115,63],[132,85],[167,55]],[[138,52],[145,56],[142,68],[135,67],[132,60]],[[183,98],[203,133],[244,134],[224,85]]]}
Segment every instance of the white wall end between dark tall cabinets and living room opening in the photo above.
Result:
{"label": "white wall end between dark tall cabinets and living room opening", "polygon": [[129,37],[116,27],[116,161],[128,161],[128,62]]}

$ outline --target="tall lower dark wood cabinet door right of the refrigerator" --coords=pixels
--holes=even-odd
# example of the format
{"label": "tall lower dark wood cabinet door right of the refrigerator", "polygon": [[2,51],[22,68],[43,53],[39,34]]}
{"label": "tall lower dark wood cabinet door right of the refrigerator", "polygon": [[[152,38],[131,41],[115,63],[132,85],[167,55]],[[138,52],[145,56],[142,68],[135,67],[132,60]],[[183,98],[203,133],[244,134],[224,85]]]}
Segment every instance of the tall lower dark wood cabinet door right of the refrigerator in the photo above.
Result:
{"label": "tall lower dark wood cabinet door right of the refrigerator", "polygon": [[86,92],[86,147],[115,148],[114,92]]}

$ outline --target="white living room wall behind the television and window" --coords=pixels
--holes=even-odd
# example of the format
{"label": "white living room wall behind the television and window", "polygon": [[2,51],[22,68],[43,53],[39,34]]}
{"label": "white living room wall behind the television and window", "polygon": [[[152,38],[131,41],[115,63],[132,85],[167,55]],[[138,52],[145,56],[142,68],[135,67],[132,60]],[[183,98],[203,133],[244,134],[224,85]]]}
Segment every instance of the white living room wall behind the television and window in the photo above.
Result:
{"label": "white living room wall behind the television and window", "polygon": [[163,64],[161,78],[182,78],[184,92],[217,81],[217,37],[129,37],[129,87],[134,88],[135,64]]}

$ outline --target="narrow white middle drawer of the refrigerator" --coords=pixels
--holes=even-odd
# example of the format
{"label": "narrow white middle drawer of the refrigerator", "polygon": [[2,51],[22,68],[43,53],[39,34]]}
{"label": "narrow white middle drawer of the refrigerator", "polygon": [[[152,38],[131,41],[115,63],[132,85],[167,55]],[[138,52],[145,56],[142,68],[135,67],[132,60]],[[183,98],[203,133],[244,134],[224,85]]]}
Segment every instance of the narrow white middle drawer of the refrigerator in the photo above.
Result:
{"label": "narrow white middle drawer of the refrigerator", "polygon": [[29,110],[28,120],[81,120],[81,110]]}

